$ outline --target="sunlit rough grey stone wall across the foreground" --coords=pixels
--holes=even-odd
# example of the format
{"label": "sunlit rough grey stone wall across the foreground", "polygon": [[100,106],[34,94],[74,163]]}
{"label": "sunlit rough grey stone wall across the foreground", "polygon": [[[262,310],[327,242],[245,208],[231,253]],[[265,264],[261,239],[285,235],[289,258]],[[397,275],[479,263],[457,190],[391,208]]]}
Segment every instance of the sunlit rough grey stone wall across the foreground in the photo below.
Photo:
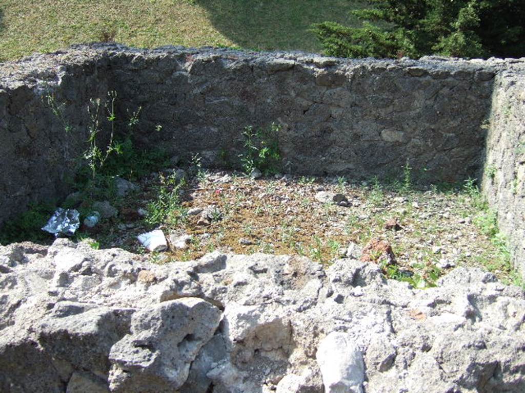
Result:
{"label": "sunlit rough grey stone wall across the foreground", "polygon": [[316,354],[334,335],[362,354],[356,391],[525,390],[524,293],[480,269],[414,290],[350,258],[326,271],[263,254],[155,265],[67,239],[0,247],[0,260],[6,393],[322,393]]}

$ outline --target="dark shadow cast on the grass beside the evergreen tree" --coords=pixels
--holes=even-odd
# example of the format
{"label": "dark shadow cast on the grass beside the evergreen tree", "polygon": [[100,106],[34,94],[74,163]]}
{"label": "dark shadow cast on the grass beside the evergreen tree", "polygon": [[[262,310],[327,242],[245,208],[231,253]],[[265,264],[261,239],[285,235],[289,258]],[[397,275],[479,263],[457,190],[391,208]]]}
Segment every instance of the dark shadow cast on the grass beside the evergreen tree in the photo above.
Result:
{"label": "dark shadow cast on the grass beside the evergreen tree", "polygon": [[239,47],[255,50],[320,52],[309,31],[314,23],[331,20],[356,24],[350,10],[359,0],[197,0],[216,29]]}

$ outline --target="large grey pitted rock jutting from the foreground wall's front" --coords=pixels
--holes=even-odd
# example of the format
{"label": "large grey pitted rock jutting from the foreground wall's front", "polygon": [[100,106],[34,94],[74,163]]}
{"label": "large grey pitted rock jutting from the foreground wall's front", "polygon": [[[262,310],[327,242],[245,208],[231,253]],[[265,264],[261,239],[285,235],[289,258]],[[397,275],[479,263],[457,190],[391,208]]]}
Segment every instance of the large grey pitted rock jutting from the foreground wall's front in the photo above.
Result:
{"label": "large grey pitted rock jutting from the foreground wall's front", "polygon": [[111,391],[160,393],[180,388],[219,320],[219,309],[196,298],[135,312],[131,333],[109,354]]}

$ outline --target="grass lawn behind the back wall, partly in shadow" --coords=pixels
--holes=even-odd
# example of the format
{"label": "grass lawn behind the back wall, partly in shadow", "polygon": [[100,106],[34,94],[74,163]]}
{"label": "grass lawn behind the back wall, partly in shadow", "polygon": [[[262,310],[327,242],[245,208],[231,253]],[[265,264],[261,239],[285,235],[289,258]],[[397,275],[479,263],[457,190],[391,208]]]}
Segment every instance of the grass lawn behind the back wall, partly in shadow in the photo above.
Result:
{"label": "grass lawn behind the back wall, partly in shadow", "polygon": [[72,43],[228,46],[319,52],[309,31],[356,23],[358,0],[0,0],[0,61]]}

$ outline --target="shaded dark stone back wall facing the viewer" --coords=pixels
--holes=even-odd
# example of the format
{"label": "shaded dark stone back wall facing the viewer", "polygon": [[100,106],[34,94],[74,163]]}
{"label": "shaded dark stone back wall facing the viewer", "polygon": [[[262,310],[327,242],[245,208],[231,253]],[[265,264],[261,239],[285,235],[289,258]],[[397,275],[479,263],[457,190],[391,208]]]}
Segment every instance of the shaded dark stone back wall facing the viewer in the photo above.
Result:
{"label": "shaded dark stone back wall facing the viewer", "polygon": [[[282,126],[286,170],[396,176],[409,160],[433,181],[479,168],[492,72],[443,61],[343,61],[241,52],[125,53],[115,85],[142,106],[145,143],[236,158],[247,125]],[[152,133],[155,125],[162,133]]]}

